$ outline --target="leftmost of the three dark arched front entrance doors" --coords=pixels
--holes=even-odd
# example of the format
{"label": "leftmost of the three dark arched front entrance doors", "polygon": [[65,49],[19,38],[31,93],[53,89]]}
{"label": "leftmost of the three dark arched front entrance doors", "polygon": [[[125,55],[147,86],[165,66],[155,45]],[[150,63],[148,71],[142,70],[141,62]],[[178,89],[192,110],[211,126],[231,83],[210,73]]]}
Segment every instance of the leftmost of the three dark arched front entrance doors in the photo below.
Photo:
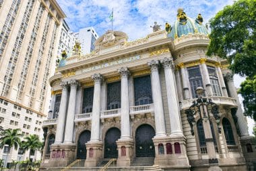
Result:
{"label": "leftmost of the three dark arched front entrance doors", "polygon": [[86,159],[86,143],[91,138],[91,132],[86,130],[79,135],[77,141],[77,159]]}

